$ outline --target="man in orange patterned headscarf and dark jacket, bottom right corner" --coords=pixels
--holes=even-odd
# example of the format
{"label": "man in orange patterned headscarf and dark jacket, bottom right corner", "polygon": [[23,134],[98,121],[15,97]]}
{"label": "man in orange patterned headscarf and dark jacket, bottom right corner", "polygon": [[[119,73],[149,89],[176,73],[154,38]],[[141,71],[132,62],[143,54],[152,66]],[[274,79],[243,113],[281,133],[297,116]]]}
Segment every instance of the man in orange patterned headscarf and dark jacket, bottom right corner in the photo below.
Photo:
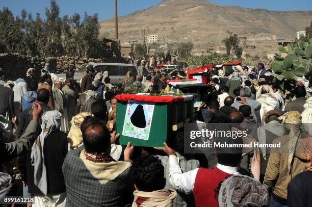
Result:
{"label": "man in orange patterned headscarf and dark jacket, bottom right corner", "polygon": [[289,207],[310,206],[312,203],[312,138],[306,139],[305,156],[308,163],[299,175],[288,185],[287,205]]}

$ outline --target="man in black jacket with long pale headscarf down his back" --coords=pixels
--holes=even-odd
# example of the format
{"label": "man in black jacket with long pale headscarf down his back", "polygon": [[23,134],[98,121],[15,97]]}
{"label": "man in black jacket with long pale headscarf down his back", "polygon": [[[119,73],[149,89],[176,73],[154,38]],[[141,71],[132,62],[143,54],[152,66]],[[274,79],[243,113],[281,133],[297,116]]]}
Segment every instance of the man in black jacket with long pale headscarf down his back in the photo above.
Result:
{"label": "man in black jacket with long pale headscarf down his back", "polygon": [[68,152],[66,134],[60,131],[62,114],[45,112],[41,133],[31,151],[33,174],[28,175],[29,192],[39,206],[65,206],[66,187],[62,166]]}

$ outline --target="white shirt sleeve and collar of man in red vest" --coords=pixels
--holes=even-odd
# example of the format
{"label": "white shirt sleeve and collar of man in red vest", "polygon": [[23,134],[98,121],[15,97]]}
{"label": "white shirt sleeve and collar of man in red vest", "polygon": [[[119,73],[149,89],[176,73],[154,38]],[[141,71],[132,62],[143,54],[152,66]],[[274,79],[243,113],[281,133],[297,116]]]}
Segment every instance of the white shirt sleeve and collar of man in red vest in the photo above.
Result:
{"label": "white shirt sleeve and collar of man in red vest", "polygon": [[[216,167],[228,174],[239,174],[237,167],[230,167],[217,164]],[[197,171],[199,168],[182,173],[178,158],[176,156],[169,156],[169,182],[178,191],[190,194],[193,192]]]}

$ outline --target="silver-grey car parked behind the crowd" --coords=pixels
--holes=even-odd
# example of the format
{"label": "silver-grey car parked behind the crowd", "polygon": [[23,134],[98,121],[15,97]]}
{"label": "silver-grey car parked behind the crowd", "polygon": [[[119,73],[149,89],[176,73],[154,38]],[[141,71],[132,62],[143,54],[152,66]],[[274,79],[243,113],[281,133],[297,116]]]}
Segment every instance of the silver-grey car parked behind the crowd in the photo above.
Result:
{"label": "silver-grey car parked behind the crowd", "polygon": [[[128,71],[131,71],[131,75],[136,79],[138,74],[138,68],[136,65],[123,64],[123,63],[88,63],[79,68],[74,74],[74,80],[80,82],[82,77],[86,74],[87,66],[92,65],[94,70],[98,72],[109,72],[109,77],[111,79],[111,84],[115,86],[122,85],[125,75]],[[65,81],[66,74],[57,74],[59,79]]]}

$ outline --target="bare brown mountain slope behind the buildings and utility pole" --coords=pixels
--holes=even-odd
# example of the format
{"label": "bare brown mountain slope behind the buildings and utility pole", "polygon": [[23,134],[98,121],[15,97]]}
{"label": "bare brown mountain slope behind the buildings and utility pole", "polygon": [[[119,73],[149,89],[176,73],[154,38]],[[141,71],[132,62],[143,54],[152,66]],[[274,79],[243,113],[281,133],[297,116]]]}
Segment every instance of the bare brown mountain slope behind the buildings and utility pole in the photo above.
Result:
{"label": "bare brown mountain slope behind the buildings and utility pole", "polygon": [[[164,0],[154,7],[118,17],[118,36],[121,43],[143,42],[142,30],[147,32],[148,27],[149,34],[157,34],[160,41],[178,38],[179,42],[192,41],[195,48],[214,48],[222,45],[227,31],[253,40],[273,35],[295,39],[296,32],[305,30],[311,20],[312,10],[269,11],[218,6],[205,0]],[[114,19],[103,20],[100,26],[103,36],[114,38]],[[258,41],[248,44],[262,45]],[[272,43],[264,45],[269,45],[264,46],[267,50],[272,47]]]}

